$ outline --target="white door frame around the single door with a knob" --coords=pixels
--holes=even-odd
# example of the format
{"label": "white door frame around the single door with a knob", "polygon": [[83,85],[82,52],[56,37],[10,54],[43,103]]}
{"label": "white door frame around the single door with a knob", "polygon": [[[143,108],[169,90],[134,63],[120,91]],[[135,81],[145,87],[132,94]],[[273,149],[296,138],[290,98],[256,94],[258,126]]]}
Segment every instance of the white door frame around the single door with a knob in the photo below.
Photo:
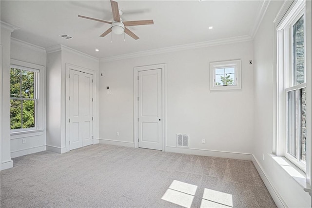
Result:
{"label": "white door frame around the single door with a knob", "polygon": [[146,66],[137,66],[134,67],[134,144],[135,148],[138,148],[138,72],[139,71],[147,71],[147,70],[153,70],[153,69],[161,69],[161,99],[162,99],[162,151],[165,151],[166,147],[166,63],[161,64],[154,64],[154,65],[146,65]]}

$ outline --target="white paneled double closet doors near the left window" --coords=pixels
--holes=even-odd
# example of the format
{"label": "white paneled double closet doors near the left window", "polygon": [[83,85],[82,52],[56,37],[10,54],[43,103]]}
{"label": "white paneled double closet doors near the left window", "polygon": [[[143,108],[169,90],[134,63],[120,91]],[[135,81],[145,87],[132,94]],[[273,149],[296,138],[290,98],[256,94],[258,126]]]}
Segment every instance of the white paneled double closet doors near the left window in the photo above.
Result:
{"label": "white paneled double closet doors near the left window", "polygon": [[69,70],[69,147],[93,144],[93,75]]}

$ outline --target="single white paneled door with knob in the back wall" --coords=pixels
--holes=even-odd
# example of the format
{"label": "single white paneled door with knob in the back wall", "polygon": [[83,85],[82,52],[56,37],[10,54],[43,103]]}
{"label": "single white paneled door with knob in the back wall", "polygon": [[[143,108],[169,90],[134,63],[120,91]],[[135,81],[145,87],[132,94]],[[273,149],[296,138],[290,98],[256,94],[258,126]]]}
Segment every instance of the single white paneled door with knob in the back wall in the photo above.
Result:
{"label": "single white paneled door with knob in the back wall", "polygon": [[161,69],[138,72],[138,147],[162,150]]}

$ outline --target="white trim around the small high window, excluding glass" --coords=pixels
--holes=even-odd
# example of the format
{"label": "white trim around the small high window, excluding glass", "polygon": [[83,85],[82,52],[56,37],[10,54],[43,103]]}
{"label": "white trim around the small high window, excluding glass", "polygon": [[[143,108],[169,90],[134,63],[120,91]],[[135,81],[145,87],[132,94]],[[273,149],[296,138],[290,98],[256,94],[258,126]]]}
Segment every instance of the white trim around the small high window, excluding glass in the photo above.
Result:
{"label": "white trim around the small high window, excluding glass", "polygon": [[[215,70],[218,68],[235,68],[235,84],[234,85],[215,85]],[[210,71],[210,90],[219,91],[219,90],[237,90],[241,89],[241,60],[229,60],[229,61],[220,61],[220,62],[210,62],[209,63]]]}

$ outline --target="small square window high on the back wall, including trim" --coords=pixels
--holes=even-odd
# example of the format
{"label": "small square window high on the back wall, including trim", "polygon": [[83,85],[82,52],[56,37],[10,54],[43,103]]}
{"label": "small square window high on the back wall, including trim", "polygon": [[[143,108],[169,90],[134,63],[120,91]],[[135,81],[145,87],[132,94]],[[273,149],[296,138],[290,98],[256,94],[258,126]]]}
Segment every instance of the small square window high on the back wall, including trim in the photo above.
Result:
{"label": "small square window high on the back wall, including trim", "polygon": [[210,90],[241,88],[240,60],[210,63]]}

